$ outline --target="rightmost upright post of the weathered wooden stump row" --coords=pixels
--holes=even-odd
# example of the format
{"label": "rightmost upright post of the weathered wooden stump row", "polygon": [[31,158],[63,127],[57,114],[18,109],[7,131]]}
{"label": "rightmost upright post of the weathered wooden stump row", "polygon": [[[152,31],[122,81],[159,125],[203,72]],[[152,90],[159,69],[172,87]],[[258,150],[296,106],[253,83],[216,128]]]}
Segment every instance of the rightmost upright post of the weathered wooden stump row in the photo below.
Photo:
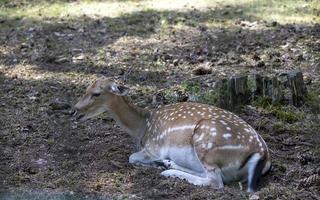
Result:
{"label": "rightmost upright post of the weathered wooden stump row", "polygon": [[291,103],[294,106],[302,106],[307,88],[303,82],[303,75],[300,70],[292,70],[288,73],[289,87],[291,89]]}

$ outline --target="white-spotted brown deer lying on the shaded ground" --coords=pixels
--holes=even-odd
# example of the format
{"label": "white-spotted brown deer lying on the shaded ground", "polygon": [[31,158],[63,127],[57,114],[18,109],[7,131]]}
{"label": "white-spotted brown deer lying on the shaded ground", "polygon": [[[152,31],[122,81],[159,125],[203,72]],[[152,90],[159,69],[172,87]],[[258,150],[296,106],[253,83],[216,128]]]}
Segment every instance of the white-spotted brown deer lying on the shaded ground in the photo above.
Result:
{"label": "white-spotted brown deer lying on the shaded ground", "polygon": [[80,121],[108,112],[133,137],[138,151],[130,155],[130,164],[162,167],[165,177],[212,188],[246,181],[250,193],[270,170],[266,142],[234,113],[196,102],[141,108],[131,103],[128,92],[102,77],[74,107]]}

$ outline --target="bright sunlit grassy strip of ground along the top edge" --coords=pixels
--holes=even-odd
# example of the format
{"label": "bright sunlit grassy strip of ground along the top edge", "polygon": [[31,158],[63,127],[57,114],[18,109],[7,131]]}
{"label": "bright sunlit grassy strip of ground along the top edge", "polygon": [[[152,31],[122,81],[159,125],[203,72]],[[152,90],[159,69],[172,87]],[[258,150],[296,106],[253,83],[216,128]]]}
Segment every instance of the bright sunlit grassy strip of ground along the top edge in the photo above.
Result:
{"label": "bright sunlit grassy strip of ground along the top edge", "polygon": [[[219,10],[222,13],[204,16],[206,24],[220,24],[238,18],[277,21],[279,23],[319,22],[320,4],[317,0],[142,0],[142,1],[6,1],[0,7],[0,17],[22,20],[76,19],[86,15],[91,18],[120,17],[141,11],[179,11],[192,9]],[[14,4],[18,2],[18,4]],[[14,4],[15,6],[10,6]],[[163,23],[163,22],[162,22]]]}

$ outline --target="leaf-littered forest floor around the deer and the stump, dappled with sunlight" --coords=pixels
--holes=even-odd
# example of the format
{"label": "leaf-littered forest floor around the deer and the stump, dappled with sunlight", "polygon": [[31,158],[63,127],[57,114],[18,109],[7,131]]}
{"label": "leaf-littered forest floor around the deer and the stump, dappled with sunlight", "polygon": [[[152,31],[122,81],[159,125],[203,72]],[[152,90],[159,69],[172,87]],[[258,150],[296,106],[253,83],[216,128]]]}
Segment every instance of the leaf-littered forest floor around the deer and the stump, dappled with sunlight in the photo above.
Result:
{"label": "leaf-littered forest floor around the deer and the stump, dappled with sunlight", "polygon": [[[306,103],[254,102],[238,115],[271,150],[260,199],[320,199],[320,5],[317,0],[0,0],[0,199],[249,199],[128,164],[129,135],[71,107],[97,77],[132,101],[214,104],[218,80],[301,69]],[[194,75],[198,67],[211,74]],[[185,95],[180,98],[179,95]]]}

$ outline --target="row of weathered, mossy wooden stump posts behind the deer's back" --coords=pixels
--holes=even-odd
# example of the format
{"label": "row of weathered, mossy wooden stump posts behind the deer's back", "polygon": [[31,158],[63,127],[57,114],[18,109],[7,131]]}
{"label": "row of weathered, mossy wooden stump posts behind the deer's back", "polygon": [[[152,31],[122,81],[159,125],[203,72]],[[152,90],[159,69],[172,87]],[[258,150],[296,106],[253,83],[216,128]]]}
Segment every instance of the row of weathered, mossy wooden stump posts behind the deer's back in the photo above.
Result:
{"label": "row of weathered, mossy wooden stump posts behind the deer's back", "polygon": [[[218,82],[218,105],[228,110],[235,110],[252,99],[266,97],[272,102],[291,102],[301,106],[305,100],[306,87],[300,70],[293,70],[272,78],[255,74],[253,79],[248,76],[232,76]],[[290,90],[290,91],[289,91]],[[252,98],[253,97],[253,98]]]}

